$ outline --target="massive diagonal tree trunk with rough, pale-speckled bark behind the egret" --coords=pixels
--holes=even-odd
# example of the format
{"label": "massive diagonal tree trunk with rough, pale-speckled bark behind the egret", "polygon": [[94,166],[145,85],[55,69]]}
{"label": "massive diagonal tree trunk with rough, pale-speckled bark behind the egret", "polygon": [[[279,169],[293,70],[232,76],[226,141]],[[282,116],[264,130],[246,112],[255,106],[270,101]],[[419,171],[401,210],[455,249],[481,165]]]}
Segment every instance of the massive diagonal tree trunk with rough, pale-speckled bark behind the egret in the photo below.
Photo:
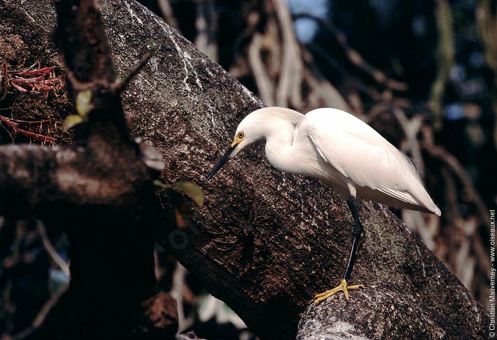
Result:
{"label": "massive diagonal tree trunk with rough, pale-speckled bark behind the egret", "polygon": [[[162,155],[164,180],[200,182],[231,143],[237,123],[261,102],[136,2],[100,6],[120,72],[139,60],[147,39],[158,46],[123,93],[133,133]],[[48,39],[55,24],[51,1],[1,0],[0,14],[2,35],[32,58],[58,62]],[[366,289],[352,292],[348,304],[337,295],[315,307],[312,296],[336,285],[346,262],[352,230],[346,204],[315,180],[271,169],[260,145],[204,189],[206,204],[184,229],[155,202],[156,240],[261,339],[295,339],[306,308],[299,339],[486,338],[485,309],[386,208],[365,203],[359,211],[367,239],[351,283]],[[169,202],[163,198],[163,204]],[[333,327],[339,329],[328,330]]]}

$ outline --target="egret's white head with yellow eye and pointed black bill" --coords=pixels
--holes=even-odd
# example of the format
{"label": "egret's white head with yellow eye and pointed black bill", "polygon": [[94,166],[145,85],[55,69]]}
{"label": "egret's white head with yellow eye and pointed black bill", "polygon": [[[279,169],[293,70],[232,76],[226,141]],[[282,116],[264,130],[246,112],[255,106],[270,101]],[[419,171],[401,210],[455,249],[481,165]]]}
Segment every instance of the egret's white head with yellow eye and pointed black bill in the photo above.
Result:
{"label": "egret's white head with yellow eye and pointed black bill", "polygon": [[211,172],[209,172],[207,178],[204,180],[204,183],[211,179],[211,177],[214,176],[214,174],[218,172],[219,169],[221,169],[232,157],[253,142],[264,138],[264,134],[261,130],[261,124],[263,122],[262,118],[262,114],[259,110],[257,110],[248,114],[248,116],[246,116],[240,124],[238,124],[233,143],[214,168],[212,168]]}

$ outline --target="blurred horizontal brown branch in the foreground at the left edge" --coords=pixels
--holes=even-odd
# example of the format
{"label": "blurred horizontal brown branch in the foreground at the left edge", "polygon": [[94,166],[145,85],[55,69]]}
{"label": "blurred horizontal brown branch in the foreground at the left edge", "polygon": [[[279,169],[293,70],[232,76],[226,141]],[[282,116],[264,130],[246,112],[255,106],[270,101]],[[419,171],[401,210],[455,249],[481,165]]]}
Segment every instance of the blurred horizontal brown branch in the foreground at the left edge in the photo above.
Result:
{"label": "blurred horizontal brown branch in the foreground at the left edge", "polygon": [[[143,147],[150,150],[146,144]],[[99,160],[100,152],[105,162]],[[142,158],[122,167],[119,154],[110,148],[99,153],[81,147],[0,147],[0,211],[15,217],[50,217],[54,211],[49,207],[54,204],[72,209],[87,205],[126,209],[136,204],[133,197],[147,182],[152,187],[155,170]],[[150,153],[149,164],[157,163]]]}

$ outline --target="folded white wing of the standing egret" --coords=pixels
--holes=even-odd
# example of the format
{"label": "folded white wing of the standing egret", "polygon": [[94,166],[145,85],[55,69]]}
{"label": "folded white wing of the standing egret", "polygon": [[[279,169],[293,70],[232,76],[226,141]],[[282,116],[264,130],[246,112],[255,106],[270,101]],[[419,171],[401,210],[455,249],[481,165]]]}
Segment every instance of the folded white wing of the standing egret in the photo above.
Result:
{"label": "folded white wing of the standing egret", "polygon": [[334,169],[356,186],[414,205],[433,204],[411,161],[378,132],[349,113],[320,110],[308,113],[302,124],[321,157]]}

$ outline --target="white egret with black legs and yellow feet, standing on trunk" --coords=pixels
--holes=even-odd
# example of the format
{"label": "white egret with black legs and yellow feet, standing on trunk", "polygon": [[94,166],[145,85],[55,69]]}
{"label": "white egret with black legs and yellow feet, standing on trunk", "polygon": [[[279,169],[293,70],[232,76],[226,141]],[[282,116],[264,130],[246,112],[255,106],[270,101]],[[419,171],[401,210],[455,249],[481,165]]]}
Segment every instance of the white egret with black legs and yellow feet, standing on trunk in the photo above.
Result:
{"label": "white egret with black legs and yellow feet, standing on trunk", "polygon": [[356,198],[440,216],[409,158],[362,120],[336,109],[303,115],[272,107],[248,114],[238,125],[230,149],[204,183],[229,159],[261,139],[266,140],[266,158],[273,167],[318,178],[346,200],[352,213],[352,248],[345,274],[337,287],[316,295],[316,303],[338,291],[348,301],[348,290],[364,288],[347,283],[365,237]]}

